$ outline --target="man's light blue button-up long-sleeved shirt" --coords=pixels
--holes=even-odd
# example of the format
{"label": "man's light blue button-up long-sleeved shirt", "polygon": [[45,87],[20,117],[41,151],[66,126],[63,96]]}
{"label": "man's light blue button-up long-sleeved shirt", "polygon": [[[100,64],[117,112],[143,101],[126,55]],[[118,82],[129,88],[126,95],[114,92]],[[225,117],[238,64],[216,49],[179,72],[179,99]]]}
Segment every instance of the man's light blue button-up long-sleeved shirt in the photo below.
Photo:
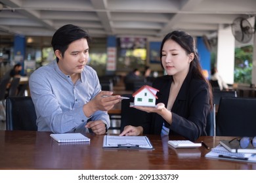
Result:
{"label": "man's light blue button-up long-sleeved shirt", "polygon": [[[102,120],[110,127],[110,118],[106,111],[96,111],[85,116],[83,105],[88,103],[101,87],[96,71],[85,66],[81,80],[74,84],[68,75],[58,68],[56,61],[39,67],[30,76],[30,94],[37,114],[38,131],[53,133],[85,132],[87,120]],[[24,114],[26,115],[26,114]]]}

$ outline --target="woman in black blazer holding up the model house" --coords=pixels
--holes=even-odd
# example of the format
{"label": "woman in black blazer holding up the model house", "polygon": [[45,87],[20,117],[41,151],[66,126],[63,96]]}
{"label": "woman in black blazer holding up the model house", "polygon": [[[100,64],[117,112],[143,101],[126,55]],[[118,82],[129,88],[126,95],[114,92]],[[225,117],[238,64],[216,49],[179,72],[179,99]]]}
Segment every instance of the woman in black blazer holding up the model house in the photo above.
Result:
{"label": "woman in black blazer holding up the model house", "polygon": [[205,124],[211,109],[212,93],[196,52],[192,36],[183,31],[168,33],[161,42],[161,66],[167,75],[157,78],[153,87],[156,108],[135,107],[149,112],[139,127],[128,125],[120,135],[182,135],[190,141],[207,135]]}

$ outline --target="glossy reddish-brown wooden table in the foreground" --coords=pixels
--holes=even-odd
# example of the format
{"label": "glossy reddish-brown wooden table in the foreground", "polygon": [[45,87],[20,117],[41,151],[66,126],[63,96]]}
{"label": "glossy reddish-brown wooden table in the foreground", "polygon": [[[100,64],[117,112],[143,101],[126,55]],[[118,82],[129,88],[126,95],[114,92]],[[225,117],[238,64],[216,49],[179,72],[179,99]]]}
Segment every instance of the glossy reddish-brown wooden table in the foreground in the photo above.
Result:
{"label": "glossy reddish-brown wooden table in the foreground", "polygon": [[[256,169],[255,163],[205,158],[209,150],[203,146],[172,148],[168,136],[147,135],[154,150],[107,150],[102,148],[104,135],[85,135],[91,142],[58,144],[49,132],[0,131],[0,169]],[[200,137],[198,142],[213,148],[221,139],[232,137]]]}

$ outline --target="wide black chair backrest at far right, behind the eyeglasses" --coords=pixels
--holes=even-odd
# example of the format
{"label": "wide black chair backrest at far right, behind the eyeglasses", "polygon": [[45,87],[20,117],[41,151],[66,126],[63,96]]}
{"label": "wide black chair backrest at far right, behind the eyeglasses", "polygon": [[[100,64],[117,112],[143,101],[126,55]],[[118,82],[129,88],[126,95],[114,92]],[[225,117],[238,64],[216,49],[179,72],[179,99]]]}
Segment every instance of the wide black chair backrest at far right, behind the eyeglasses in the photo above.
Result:
{"label": "wide black chair backrest at far right, behind the eyeglasses", "polygon": [[216,135],[256,136],[256,98],[221,97],[216,116]]}

